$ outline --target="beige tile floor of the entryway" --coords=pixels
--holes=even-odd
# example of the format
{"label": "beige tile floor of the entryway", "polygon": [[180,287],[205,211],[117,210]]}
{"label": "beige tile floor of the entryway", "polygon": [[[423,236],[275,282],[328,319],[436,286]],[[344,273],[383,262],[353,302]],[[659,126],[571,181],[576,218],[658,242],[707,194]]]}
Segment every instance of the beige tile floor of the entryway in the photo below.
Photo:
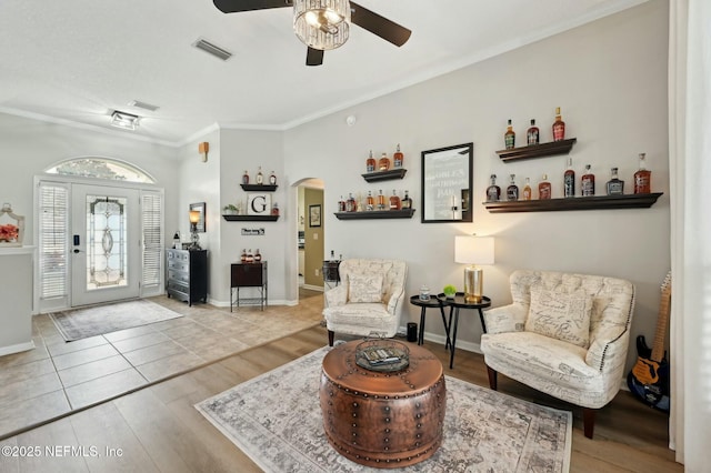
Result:
{"label": "beige tile floor of the entryway", "polygon": [[0,356],[0,439],[318,324],[321,293],[300,298],[263,312],[151,298],[184,316],[69,343],[37,315],[36,349]]}

